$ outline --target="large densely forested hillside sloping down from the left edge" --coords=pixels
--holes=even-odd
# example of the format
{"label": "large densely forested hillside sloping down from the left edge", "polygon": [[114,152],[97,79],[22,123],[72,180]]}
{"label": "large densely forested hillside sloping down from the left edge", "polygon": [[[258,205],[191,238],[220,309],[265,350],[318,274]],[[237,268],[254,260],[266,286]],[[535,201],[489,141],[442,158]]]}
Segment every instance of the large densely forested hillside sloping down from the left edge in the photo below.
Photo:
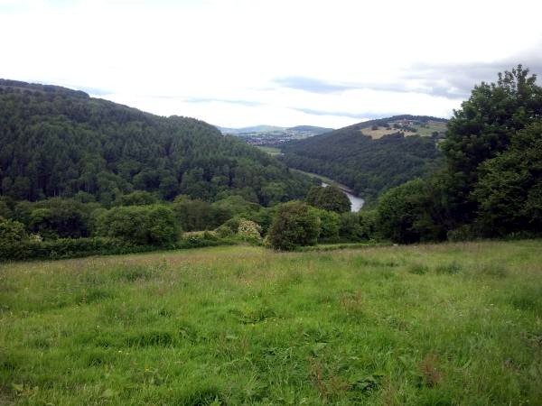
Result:
{"label": "large densely forested hillside sloping down from the left edge", "polygon": [[[0,80],[0,194],[86,193],[107,204],[134,189],[170,199],[301,198],[309,180],[193,118],[163,117],[84,92]],[[280,195],[280,196],[279,196]]]}

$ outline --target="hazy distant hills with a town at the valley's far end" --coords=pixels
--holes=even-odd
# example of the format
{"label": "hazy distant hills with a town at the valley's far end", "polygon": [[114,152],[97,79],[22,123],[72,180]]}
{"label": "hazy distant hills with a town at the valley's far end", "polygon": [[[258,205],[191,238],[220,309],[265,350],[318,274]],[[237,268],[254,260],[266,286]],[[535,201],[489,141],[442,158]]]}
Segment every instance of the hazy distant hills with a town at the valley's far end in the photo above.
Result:
{"label": "hazy distant hills with a town at the valley's far end", "polygon": [[236,135],[249,144],[258,146],[277,146],[292,140],[303,140],[314,135],[332,131],[332,128],[313,125],[297,125],[294,127],[277,127],[274,125],[255,125],[244,128],[218,127],[222,134]]}

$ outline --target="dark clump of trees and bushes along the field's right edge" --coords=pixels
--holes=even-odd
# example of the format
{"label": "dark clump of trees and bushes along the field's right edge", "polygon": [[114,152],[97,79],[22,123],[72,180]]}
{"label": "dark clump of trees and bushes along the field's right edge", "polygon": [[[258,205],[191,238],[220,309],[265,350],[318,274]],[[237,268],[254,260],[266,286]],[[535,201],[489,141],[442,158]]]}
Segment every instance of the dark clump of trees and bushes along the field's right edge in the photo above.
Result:
{"label": "dark clump of trees and bushes along the field's right edge", "polygon": [[379,200],[382,234],[413,243],[539,233],[541,122],[542,88],[521,65],[476,86],[448,122],[444,168]]}

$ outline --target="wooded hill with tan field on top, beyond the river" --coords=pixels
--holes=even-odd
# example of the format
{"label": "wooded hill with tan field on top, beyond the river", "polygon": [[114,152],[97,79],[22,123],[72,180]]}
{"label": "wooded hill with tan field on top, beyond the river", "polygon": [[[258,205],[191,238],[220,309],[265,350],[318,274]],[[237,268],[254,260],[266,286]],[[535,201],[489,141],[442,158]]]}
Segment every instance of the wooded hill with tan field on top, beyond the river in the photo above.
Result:
{"label": "wooded hill with tan field on top, beyond the river", "polygon": [[422,176],[438,159],[446,120],[396,115],[281,146],[282,161],[340,181],[363,198]]}

